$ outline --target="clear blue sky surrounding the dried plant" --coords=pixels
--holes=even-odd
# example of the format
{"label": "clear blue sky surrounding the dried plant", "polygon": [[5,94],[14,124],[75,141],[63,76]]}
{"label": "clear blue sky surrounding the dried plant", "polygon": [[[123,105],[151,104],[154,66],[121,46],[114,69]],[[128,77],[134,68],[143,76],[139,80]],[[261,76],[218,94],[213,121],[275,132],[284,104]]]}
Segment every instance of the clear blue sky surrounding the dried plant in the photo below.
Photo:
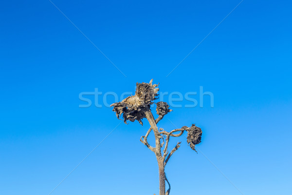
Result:
{"label": "clear blue sky surrounding the dried plant", "polygon": [[[171,195],[292,194],[291,2],[244,0],[168,77],[239,0],[53,2],[127,77],[50,1],[2,1],[1,195],[48,195],[120,123],[111,108],[79,108],[79,93],[120,96],[151,78],[214,94],[214,108],[205,97],[159,125],[203,131],[198,154],[171,142],[183,141],[166,166]],[[120,124],[52,195],[157,194],[144,124]]]}

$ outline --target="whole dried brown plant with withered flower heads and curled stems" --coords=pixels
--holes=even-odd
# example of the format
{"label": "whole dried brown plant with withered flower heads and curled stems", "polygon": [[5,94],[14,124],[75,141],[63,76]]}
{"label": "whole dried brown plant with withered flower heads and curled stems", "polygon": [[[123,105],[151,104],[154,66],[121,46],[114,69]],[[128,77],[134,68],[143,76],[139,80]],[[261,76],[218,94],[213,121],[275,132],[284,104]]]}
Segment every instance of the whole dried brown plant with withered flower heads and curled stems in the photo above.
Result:
{"label": "whole dried brown plant with withered flower heads and curled stems", "polygon": [[[153,80],[153,79],[152,79]],[[111,104],[116,116],[120,119],[123,117],[124,122],[127,124],[127,120],[134,122],[137,120],[143,125],[142,119],[146,118],[150,124],[150,128],[145,136],[140,138],[140,141],[147,146],[152,152],[155,153],[159,168],[159,195],[169,195],[170,184],[166,179],[164,168],[167,164],[170,156],[181,146],[181,142],[168,152],[168,142],[170,137],[180,137],[184,131],[187,132],[187,143],[191,149],[195,150],[195,145],[201,142],[202,131],[201,128],[196,127],[194,124],[191,127],[183,126],[180,129],[174,129],[170,132],[164,131],[164,129],[158,129],[157,123],[172,110],[169,109],[169,105],[166,102],[160,101],[156,103],[156,112],[159,115],[154,119],[150,105],[154,103],[155,99],[158,99],[158,84],[152,84],[152,80],[149,83],[137,83],[136,92],[134,96],[125,98],[121,102]],[[147,142],[147,137],[153,130],[155,136],[155,147],[150,146]],[[162,143],[161,143],[162,142]],[[197,152],[197,151],[196,151]],[[167,181],[169,188],[165,193],[165,181]]]}

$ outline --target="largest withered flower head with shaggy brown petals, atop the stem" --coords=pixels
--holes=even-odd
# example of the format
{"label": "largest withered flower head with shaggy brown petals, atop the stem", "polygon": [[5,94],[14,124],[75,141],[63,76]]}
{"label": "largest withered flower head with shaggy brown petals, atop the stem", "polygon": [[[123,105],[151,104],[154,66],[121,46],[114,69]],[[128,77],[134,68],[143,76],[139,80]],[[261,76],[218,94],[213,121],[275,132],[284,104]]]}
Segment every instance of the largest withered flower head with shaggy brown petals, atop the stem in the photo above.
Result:
{"label": "largest withered flower head with shaggy brown petals, atop the stem", "polygon": [[[152,79],[153,80],[153,79]],[[113,110],[118,118],[123,114],[124,122],[127,120],[134,122],[138,120],[143,125],[142,118],[145,118],[145,111],[150,109],[150,105],[153,104],[153,100],[157,99],[157,92],[159,88],[156,88],[157,84],[152,84],[152,80],[149,83],[137,83],[135,96],[129,96],[123,99],[121,102],[111,104]]]}

